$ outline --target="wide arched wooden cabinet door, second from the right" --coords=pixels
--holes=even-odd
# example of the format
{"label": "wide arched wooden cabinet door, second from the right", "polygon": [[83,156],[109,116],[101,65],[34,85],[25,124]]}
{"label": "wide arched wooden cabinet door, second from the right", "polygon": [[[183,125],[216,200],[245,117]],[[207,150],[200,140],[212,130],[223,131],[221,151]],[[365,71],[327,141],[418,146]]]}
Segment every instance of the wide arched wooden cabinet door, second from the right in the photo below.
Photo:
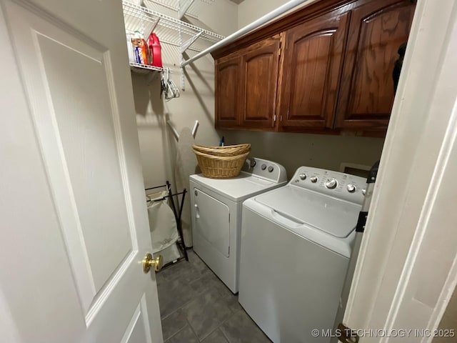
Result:
{"label": "wide arched wooden cabinet door, second from the right", "polygon": [[286,31],[281,129],[333,126],[348,14],[327,14]]}

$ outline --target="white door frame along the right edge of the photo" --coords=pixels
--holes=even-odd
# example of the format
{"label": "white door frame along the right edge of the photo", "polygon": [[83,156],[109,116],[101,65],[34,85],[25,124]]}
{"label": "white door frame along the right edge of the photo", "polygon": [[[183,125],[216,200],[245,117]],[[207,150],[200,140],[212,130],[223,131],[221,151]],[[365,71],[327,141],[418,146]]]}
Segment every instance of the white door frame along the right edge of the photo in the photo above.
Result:
{"label": "white door frame along the right edge of the photo", "polygon": [[457,165],[455,56],[457,3],[418,0],[343,319],[351,329],[436,329],[456,287],[457,214],[445,211],[457,194],[446,179]]}

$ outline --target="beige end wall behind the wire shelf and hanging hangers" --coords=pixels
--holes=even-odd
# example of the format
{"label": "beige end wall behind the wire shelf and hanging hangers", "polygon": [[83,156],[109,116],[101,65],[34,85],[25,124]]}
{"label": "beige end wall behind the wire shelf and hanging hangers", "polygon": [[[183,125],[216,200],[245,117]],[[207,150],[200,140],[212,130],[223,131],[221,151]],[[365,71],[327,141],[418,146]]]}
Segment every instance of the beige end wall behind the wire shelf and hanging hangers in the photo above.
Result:
{"label": "beige end wall behind the wire shelf and hanging hangers", "polygon": [[[215,0],[205,4],[196,0],[199,21],[189,19],[192,24],[206,27],[224,36],[236,31],[238,6],[229,0]],[[160,6],[154,10],[169,16],[176,13]],[[160,39],[160,36],[159,36]],[[192,54],[192,53],[189,53]],[[179,50],[162,44],[164,66],[171,68],[171,79],[180,86]],[[169,118],[178,131],[192,128],[199,120],[196,142],[217,144],[219,134],[214,129],[214,60],[211,55],[186,66],[185,86],[177,99],[160,99],[160,77],[149,81],[148,76],[132,73],[136,121],[138,124],[141,159],[146,187],[164,184],[174,178],[176,141],[166,125]]]}

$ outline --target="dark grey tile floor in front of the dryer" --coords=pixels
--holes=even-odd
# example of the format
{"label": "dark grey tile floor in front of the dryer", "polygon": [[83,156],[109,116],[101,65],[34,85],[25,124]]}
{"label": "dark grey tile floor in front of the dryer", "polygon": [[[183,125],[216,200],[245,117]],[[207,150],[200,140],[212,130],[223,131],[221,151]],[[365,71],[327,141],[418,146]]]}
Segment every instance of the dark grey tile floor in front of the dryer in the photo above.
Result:
{"label": "dark grey tile floor in front of the dryer", "polygon": [[156,277],[165,343],[271,342],[194,252]]}

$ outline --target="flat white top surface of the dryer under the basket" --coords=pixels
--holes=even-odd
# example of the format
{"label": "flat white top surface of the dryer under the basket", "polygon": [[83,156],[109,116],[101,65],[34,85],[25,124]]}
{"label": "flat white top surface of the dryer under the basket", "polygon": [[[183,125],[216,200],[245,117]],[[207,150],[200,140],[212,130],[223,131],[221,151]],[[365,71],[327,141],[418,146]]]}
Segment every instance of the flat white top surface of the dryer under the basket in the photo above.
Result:
{"label": "flat white top surface of the dryer under the basket", "polygon": [[241,172],[238,177],[231,179],[210,179],[209,177],[204,177],[202,174],[191,175],[190,179],[234,202],[242,201],[253,195],[265,192],[268,189],[285,184],[285,182],[276,183],[254,177],[244,172]]}

